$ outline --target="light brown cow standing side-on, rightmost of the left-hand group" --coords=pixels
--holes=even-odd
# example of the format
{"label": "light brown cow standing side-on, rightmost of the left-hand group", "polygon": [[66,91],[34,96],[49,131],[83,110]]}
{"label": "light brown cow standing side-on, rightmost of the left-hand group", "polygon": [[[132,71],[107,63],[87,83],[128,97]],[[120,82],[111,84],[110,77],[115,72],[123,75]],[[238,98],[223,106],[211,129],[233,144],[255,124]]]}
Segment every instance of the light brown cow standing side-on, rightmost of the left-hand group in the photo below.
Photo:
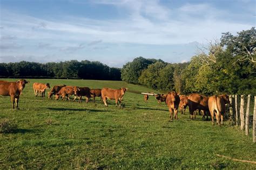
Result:
{"label": "light brown cow standing side-on, rightmost of the left-hand group", "polygon": [[125,91],[128,90],[128,88],[120,88],[120,89],[110,89],[110,88],[103,88],[102,89],[102,99],[103,102],[105,104],[105,106],[107,107],[107,103],[106,100],[110,99],[110,100],[116,100],[116,107],[117,107],[117,103],[119,101],[119,107],[121,107],[121,102],[123,100],[123,96],[125,94]]}

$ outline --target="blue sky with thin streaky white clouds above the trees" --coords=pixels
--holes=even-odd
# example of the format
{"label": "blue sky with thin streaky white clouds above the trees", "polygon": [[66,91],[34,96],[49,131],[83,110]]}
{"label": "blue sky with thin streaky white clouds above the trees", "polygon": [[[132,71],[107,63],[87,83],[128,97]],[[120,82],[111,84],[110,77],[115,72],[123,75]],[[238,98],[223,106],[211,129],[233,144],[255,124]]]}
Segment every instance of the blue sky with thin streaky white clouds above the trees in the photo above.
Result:
{"label": "blue sky with thin streaky white clouds above the trees", "polygon": [[0,62],[190,61],[256,25],[256,0],[0,0]]}

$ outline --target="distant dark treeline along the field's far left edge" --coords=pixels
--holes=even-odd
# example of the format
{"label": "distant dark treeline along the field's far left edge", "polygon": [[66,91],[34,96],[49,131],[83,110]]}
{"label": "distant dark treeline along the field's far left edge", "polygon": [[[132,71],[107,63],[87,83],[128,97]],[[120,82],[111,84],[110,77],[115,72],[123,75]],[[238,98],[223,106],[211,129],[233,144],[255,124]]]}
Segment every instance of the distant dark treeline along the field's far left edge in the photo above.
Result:
{"label": "distant dark treeline along the field's far left edge", "polygon": [[30,77],[54,79],[121,80],[120,68],[99,61],[0,63],[0,77]]}

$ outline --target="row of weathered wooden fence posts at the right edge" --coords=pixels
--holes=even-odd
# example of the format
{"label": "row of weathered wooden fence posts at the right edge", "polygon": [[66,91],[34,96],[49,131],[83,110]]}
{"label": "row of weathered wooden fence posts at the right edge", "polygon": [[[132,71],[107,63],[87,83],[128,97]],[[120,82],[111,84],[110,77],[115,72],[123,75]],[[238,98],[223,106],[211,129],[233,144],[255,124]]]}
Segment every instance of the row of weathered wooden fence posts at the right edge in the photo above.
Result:
{"label": "row of weathered wooden fence posts at the right edge", "polygon": [[[250,115],[250,105],[253,103],[251,102],[251,95],[247,97],[245,95],[240,96],[240,111],[238,113],[238,106],[239,106],[239,96],[238,95],[230,95],[230,119],[235,122],[235,125],[239,126],[240,130],[244,131],[246,136],[249,134],[250,130],[250,122],[252,122],[252,138],[253,142],[256,142],[256,96],[254,96],[254,108],[253,108],[253,116]],[[246,102],[246,113],[245,113],[245,102]],[[251,104],[250,104],[251,103]],[[252,106],[251,105],[251,106]],[[252,118],[253,117],[253,118]]]}

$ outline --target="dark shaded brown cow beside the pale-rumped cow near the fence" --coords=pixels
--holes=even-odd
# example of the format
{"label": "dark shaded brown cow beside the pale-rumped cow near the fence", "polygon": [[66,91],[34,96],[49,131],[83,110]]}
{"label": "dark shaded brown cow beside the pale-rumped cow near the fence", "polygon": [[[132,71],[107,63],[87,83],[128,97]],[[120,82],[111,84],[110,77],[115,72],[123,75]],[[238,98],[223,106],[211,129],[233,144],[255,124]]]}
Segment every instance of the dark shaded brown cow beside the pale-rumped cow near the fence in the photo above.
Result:
{"label": "dark shaded brown cow beside the pale-rumped cow near the fence", "polygon": [[[199,110],[199,112],[203,110],[203,118],[204,118],[206,115],[206,112],[209,111],[208,97],[193,93],[189,95],[187,98],[188,98],[188,107],[190,109],[190,119],[193,119],[193,115],[194,115],[194,118],[196,118],[196,114],[194,114],[194,111],[196,111],[197,109]],[[207,119],[208,119],[208,115],[207,115]]]}

